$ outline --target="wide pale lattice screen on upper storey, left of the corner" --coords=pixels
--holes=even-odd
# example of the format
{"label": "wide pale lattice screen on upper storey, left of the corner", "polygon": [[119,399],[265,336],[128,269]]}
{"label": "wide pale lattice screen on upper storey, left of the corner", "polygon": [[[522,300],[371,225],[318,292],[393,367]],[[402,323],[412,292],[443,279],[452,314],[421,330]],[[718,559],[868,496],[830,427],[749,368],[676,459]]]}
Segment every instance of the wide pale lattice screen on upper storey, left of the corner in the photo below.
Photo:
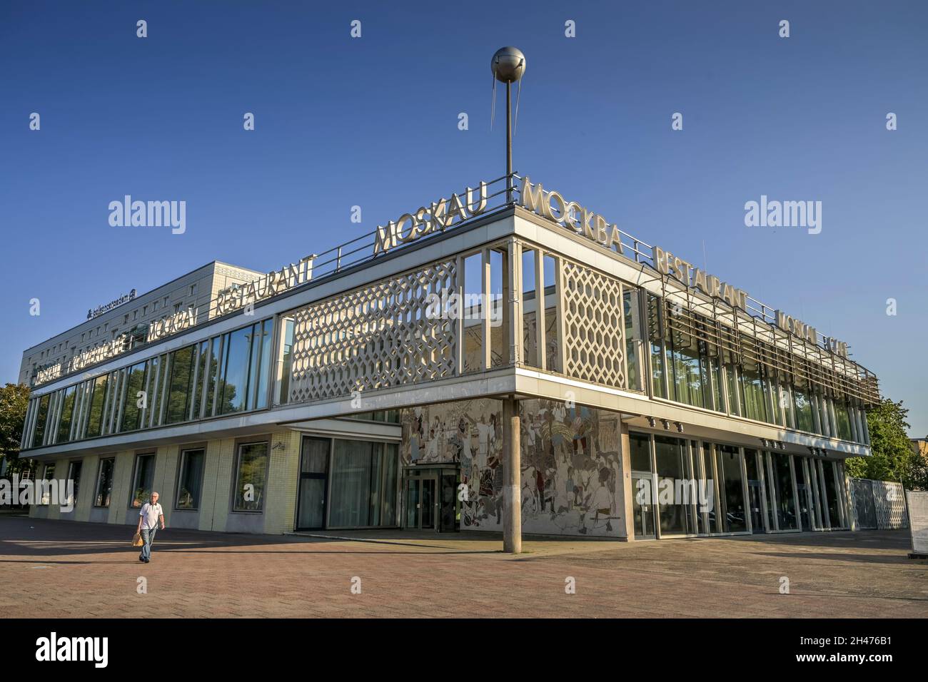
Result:
{"label": "wide pale lattice screen on upper storey, left of the corner", "polygon": [[296,311],[290,402],[454,375],[454,321],[426,310],[430,293],[455,290],[455,270],[426,265]]}

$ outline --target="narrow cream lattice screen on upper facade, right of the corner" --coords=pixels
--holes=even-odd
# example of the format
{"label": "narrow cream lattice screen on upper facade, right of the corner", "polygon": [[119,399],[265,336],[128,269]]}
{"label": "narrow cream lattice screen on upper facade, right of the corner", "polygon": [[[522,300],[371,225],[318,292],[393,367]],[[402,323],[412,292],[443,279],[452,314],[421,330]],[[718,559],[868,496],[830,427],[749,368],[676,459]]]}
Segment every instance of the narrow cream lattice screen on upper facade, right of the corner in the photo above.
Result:
{"label": "narrow cream lattice screen on upper facade, right of the corner", "polygon": [[574,379],[625,386],[622,287],[617,279],[564,260],[564,374]]}

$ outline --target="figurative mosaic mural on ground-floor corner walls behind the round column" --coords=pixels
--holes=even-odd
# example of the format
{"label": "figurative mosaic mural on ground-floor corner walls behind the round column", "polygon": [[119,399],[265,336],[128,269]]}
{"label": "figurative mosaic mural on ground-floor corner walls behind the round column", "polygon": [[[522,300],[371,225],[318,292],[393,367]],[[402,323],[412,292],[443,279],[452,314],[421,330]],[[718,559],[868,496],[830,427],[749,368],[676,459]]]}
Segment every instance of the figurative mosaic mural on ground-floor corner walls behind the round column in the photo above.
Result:
{"label": "figurative mosaic mural on ground-floor corner walls behind the round column", "polygon": [[[548,400],[520,403],[522,531],[618,536],[618,415]],[[502,531],[502,404],[487,398],[404,410],[404,464],[455,462],[469,499],[461,530]]]}

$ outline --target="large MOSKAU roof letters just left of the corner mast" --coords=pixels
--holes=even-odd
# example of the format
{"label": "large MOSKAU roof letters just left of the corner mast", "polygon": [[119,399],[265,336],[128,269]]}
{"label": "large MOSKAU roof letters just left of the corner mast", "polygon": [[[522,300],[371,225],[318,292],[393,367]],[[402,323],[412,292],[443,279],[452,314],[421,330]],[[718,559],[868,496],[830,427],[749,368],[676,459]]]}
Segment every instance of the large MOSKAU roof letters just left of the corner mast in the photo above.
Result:
{"label": "large MOSKAU roof letters just left of the corner mast", "polygon": [[452,194],[451,199],[432,201],[429,208],[420,206],[416,212],[403,213],[386,226],[378,225],[374,238],[374,255],[390,251],[394,247],[408,244],[418,238],[435,232],[444,232],[446,228],[457,225],[475,215],[486,211],[486,183],[481,182],[477,199],[470,187],[463,193],[463,198]]}

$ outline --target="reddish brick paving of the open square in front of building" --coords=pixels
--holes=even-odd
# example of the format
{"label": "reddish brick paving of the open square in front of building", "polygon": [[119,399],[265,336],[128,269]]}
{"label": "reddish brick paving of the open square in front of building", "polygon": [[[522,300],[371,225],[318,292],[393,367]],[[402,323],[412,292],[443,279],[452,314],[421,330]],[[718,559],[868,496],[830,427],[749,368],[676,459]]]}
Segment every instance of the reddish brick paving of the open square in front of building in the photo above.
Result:
{"label": "reddish brick paving of the open square in front of building", "polygon": [[[0,517],[6,617],[925,617],[908,531],[660,542],[168,528],[151,563],[133,529]],[[349,539],[344,539],[344,538]],[[377,542],[366,540],[374,539]],[[352,579],[360,578],[361,594]],[[573,577],[576,593],[565,593]],[[790,594],[780,594],[780,576]],[[138,594],[145,578],[147,594]]]}

